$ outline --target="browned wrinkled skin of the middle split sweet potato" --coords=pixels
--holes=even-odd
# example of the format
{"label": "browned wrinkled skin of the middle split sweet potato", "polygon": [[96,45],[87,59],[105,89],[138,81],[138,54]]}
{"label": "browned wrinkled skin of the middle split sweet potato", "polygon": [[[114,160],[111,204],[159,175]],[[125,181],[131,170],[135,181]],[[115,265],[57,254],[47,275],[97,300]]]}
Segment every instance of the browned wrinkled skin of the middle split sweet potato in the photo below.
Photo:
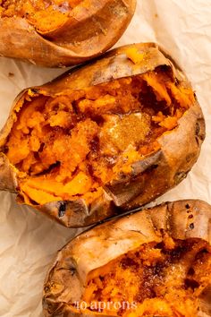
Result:
{"label": "browned wrinkled skin of the middle split sweet potato", "polygon": [[[168,67],[177,81],[190,87],[189,81],[173,61],[166,58],[154,43],[136,44],[144,53],[140,64],[133,64],[127,57],[128,47],[120,47],[108,52],[97,61],[64,73],[54,81],[34,87],[36,93],[55,96],[62,91],[83,90],[106,81],[153,71],[158,66]],[[4,129],[0,133],[0,152],[12,129],[16,109],[23,103],[28,90],[23,90],[15,99],[13,109]],[[179,184],[198,159],[201,144],[205,139],[205,120],[198,101],[179,120],[179,125],[171,133],[165,133],[158,141],[160,150],[149,154],[132,166],[130,176],[122,176],[110,184],[105,184],[102,196],[87,205],[83,200],[55,201],[33,206],[47,216],[55,218],[66,227],[86,227],[105,218],[142,206]],[[18,193],[15,168],[10,165],[4,153],[0,155],[0,189],[13,189]],[[6,168],[6,180],[5,172]],[[13,177],[12,177],[13,176]],[[23,202],[21,195],[19,202]]]}

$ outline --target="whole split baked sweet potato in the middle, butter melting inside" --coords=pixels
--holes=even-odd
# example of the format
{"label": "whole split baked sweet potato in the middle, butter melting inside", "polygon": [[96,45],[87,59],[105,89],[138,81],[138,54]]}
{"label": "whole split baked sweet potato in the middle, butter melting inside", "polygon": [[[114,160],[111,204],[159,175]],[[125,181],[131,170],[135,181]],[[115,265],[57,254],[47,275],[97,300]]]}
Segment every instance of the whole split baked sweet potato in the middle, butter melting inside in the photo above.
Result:
{"label": "whole split baked sweet potato in the middle, butter melting inside", "polygon": [[21,92],[0,135],[0,188],[67,227],[153,201],[198,159],[205,122],[155,44],[120,47]]}

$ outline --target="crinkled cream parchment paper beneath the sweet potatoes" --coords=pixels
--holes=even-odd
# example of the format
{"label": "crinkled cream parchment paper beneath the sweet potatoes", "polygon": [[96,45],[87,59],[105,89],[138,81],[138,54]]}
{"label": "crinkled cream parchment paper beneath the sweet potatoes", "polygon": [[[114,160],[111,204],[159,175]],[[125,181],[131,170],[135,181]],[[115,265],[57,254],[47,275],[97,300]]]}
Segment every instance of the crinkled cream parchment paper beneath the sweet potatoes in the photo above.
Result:
{"label": "crinkled cream parchment paper beneath the sweet potatoes", "polygon": [[[182,184],[158,201],[199,198],[211,203],[211,0],[137,2],[135,17],[117,45],[156,41],[165,47],[192,81],[207,120],[198,163]],[[0,127],[17,93],[59,73],[63,70],[0,58]],[[76,230],[16,205],[11,193],[0,193],[0,208],[0,316],[42,316],[47,267]]]}

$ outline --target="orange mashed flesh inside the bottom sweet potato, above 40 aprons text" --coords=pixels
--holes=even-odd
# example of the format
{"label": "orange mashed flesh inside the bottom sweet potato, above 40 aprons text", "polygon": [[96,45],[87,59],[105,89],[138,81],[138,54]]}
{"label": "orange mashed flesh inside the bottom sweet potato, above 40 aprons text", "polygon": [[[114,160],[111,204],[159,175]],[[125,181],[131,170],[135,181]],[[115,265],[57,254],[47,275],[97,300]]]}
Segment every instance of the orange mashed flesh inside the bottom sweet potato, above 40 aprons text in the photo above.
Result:
{"label": "orange mashed flesh inside the bottom sweet potato, above 40 aprons text", "polygon": [[160,244],[143,244],[91,272],[82,300],[89,311],[98,309],[97,303],[107,303],[100,313],[108,315],[195,317],[198,296],[210,280],[207,242],[165,236]]}

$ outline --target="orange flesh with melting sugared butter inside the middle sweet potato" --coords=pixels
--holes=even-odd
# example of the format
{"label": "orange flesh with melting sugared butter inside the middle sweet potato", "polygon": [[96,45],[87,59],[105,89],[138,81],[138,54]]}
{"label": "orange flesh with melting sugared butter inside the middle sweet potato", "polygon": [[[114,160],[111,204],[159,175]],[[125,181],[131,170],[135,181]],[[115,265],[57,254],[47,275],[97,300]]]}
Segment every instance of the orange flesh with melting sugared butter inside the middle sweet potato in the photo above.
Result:
{"label": "orange flesh with melting sugared butter inside the middle sweet potato", "polygon": [[26,202],[89,203],[104,184],[158,150],[156,139],[193,102],[192,90],[163,69],[55,97],[29,90],[5,154],[19,170]]}

